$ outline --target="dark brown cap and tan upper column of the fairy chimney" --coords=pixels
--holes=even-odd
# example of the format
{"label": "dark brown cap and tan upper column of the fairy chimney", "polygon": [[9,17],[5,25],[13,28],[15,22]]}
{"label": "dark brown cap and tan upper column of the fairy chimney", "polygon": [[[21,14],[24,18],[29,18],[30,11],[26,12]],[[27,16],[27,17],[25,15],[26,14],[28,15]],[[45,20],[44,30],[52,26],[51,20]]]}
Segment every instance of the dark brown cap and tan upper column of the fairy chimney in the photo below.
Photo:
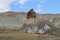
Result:
{"label": "dark brown cap and tan upper column of the fairy chimney", "polygon": [[30,25],[34,25],[35,24],[35,19],[36,19],[36,12],[31,9],[28,13],[27,13],[27,17],[26,17],[27,21],[26,24],[30,24]]}

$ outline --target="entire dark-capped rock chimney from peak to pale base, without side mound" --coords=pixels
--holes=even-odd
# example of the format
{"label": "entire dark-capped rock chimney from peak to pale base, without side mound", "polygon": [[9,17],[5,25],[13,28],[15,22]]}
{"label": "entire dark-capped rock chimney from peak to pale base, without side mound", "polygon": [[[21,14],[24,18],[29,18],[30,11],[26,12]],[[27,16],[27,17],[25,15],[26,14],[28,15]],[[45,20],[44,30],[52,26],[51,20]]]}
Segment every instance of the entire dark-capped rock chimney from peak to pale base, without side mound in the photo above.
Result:
{"label": "entire dark-capped rock chimney from peak to pale base, without side mound", "polygon": [[36,26],[36,12],[31,9],[27,13],[26,17],[26,32],[28,33],[35,33],[37,32],[37,26]]}

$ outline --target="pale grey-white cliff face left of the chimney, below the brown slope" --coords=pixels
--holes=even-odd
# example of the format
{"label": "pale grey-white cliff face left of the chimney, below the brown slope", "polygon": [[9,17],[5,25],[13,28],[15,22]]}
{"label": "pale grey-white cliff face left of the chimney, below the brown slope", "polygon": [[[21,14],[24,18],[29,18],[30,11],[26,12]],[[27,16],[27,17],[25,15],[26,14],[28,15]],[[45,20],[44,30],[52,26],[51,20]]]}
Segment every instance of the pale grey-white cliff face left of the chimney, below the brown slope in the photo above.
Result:
{"label": "pale grey-white cliff face left of the chimney, below the brown slope", "polygon": [[0,17],[0,28],[19,29],[24,22],[24,18]]}

